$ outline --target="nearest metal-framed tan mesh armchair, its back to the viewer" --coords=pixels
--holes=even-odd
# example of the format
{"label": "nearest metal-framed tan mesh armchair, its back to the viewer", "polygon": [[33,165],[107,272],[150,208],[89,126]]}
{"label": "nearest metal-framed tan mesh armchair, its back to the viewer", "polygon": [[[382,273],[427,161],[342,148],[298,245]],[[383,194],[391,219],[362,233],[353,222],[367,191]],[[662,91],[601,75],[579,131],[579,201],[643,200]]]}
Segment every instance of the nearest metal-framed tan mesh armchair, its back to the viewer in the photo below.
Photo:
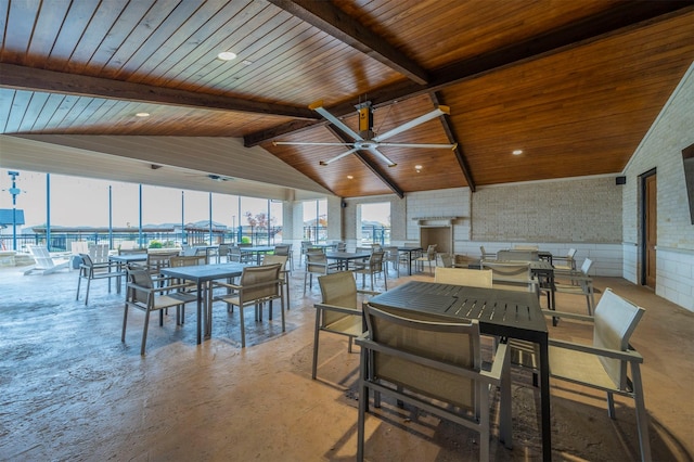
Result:
{"label": "nearest metal-framed tan mesh armchair, its back to the viewer", "polygon": [[[369,392],[374,406],[389,395],[427,413],[479,432],[479,459],[489,460],[490,395],[501,388],[500,439],[511,436],[509,356],[499,345],[491,370],[483,369],[476,321],[440,322],[440,318],[410,317],[364,304],[368,332],[356,339],[361,347],[357,460],[364,458],[364,423]],[[424,317],[426,318],[426,317]]]}

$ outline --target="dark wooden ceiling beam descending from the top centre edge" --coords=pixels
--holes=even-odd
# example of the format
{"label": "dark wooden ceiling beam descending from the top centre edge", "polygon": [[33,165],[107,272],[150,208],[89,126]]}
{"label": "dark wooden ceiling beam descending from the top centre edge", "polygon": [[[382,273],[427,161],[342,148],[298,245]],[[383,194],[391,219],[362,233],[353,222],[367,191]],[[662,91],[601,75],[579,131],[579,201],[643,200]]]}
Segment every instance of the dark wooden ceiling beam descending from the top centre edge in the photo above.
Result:
{"label": "dark wooden ceiling beam descending from the top centre edge", "polygon": [[428,81],[427,72],[391,47],[383,37],[364,27],[359,21],[329,1],[269,0],[270,3],[291,13],[349,47],[404,75],[419,85]]}

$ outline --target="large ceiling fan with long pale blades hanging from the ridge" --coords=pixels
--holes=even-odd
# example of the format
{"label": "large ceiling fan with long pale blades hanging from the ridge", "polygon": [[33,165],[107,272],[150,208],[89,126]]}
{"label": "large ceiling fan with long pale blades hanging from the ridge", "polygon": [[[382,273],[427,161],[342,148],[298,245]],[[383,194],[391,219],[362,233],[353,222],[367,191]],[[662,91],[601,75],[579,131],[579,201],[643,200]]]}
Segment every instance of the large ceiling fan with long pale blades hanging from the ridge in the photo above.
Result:
{"label": "large ceiling fan with long pale blades hanging from the ridge", "polygon": [[322,101],[317,101],[313,104],[308,106],[310,110],[316,111],[325,119],[327,119],[331,124],[339,128],[342,131],[351,137],[355,141],[346,142],[346,143],[310,143],[310,142],[300,142],[300,141],[273,141],[274,145],[283,145],[283,144],[298,144],[298,145],[314,145],[314,146],[351,146],[349,151],[346,151],[331,159],[321,161],[320,165],[329,165],[335,161],[338,161],[356,151],[365,150],[373,153],[375,156],[380,157],[383,162],[385,162],[388,167],[395,167],[397,164],[390,161],[385,154],[378,151],[378,147],[426,147],[426,149],[448,149],[454,150],[458,144],[423,144],[423,143],[385,143],[384,141],[390,137],[394,137],[398,133],[401,133],[410,128],[414,128],[417,125],[422,125],[425,121],[432,120],[436,117],[439,117],[444,114],[450,114],[450,108],[448,106],[437,106],[430,113],[419,116],[410,121],[402,124],[399,127],[396,127],[391,130],[386,131],[385,133],[375,134],[373,132],[373,106],[371,105],[371,101],[365,101],[356,105],[357,112],[359,114],[359,133],[349,128],[345,123],[340,119],[332,115],[325,107],[323,107]]}

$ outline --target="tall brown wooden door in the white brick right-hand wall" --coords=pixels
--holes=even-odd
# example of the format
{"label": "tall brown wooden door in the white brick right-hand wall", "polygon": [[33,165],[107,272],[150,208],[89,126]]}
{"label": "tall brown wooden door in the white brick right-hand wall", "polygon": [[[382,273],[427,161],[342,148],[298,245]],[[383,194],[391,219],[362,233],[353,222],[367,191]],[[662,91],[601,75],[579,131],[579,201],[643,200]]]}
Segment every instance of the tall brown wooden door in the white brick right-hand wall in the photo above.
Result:
{"label": "tall brown wooden door in the white brick right-hand wall", "polygon": [[656,244],[658,242],[657,227],[657,182],[655,169],[641,177],[642,188],[642,229],[643,241],[641,245],[641,285],[655,291],[656,285]]}

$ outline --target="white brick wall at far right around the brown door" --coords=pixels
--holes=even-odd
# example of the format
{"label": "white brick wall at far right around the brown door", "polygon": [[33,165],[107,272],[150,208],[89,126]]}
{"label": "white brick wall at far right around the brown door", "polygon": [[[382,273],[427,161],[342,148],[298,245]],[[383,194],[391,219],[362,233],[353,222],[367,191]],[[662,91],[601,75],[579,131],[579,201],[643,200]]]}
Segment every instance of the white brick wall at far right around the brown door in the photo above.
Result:
{"label": "white brick wall at far right around the brown door", "polygon": [[624,277],[640,283],[641,180],[656,169],[656,294],[694,311],[694,224],[692,224],[682,150],[694,143],[694,64],[663,107],[625,169]]}

